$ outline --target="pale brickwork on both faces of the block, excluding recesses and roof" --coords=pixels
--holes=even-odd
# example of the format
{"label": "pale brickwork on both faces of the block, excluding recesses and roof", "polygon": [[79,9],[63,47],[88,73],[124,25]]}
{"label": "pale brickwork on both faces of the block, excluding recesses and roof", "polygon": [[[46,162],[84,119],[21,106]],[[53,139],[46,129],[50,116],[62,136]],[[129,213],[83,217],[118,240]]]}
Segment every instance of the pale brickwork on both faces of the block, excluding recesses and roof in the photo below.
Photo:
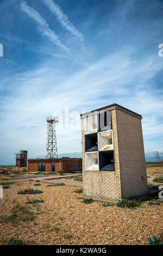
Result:
{"label": "pale brickwork on both faces of the block, excluding recesses and roof", "polygon": [[85,170],[85,119],[82,119],[83,195],[108,200],[147,192],[141,120],[111,111],[115,171]]}

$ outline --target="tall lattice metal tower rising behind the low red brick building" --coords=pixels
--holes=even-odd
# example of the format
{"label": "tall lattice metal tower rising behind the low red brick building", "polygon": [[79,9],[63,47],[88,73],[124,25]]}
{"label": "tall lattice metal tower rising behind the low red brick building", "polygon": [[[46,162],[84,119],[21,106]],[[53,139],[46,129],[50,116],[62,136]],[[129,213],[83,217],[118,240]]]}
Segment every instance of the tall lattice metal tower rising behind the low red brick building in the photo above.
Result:
{"label": "tall lattice metal tower rising behind the low red brick building", "polygon": [[58,117],[48,117],[47,121],[47,143],[46,158],[58,158],[57,138],[55,133],[55,124],[59,122]]}

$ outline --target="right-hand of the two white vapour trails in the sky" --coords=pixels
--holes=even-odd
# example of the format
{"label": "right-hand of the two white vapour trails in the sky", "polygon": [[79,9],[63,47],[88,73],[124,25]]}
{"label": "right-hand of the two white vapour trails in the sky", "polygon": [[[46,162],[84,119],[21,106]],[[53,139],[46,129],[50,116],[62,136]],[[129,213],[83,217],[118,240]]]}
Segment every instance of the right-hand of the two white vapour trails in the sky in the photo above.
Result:
{"label": "right-hand of the two white vapour trails in the sky", "polygon": [[74,27],[73,23],[68,20],[68,17],[62,11],[58,4],[54,3],[53,0],[41,0],[48,8],[52,11],[52,13],[57,17],[57,20],[64,26],[68,31],[71,32],[76,38],[80,41],[84,41],[83,34],[78,31],[76,27]]}

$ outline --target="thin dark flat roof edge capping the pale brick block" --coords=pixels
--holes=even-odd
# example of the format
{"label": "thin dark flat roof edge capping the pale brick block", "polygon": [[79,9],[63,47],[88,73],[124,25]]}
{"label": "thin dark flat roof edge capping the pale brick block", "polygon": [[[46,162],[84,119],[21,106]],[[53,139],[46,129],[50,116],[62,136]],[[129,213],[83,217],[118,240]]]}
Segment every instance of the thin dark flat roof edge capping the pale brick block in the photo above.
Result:
{"label": "thin dark flat roof edge capping the pale brick block", "polygon": [[[134,111],[131,111],[130,109],[128,109],[126,107],[122,107],[122,106],[120,106],[120,105],[118,105],[116,103],[108,105],[108,106],[105,106],[105,107],[97,108],[97,109],[94,109],[92,111],[85,112],[83,114],[80,114],[80,118],[83,119],[83,118],[86,118],[86,117],[91,117],[91,115],[96,115],[97,112],[102,113],[104,111],[110,111],[112,109],[118,109],[118,110],[120,110],[120,111],[122,111],[124,113],[133,115],[133,117],[142,119],[142,116],[140,114],[137,114]],[[96,112],[96,113],[93,113],[93,112]]]}

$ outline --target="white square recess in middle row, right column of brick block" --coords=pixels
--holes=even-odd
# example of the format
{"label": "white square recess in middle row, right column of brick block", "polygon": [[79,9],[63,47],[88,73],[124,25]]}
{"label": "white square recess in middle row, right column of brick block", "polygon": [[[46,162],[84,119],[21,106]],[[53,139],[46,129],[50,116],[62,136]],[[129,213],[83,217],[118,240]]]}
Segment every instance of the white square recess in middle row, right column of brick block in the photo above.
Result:
{"label": "white square recess in middle row, right column of brick block", "polygon": [[112,130],[98,132],[98,150],[99,151],[113,150]]}

